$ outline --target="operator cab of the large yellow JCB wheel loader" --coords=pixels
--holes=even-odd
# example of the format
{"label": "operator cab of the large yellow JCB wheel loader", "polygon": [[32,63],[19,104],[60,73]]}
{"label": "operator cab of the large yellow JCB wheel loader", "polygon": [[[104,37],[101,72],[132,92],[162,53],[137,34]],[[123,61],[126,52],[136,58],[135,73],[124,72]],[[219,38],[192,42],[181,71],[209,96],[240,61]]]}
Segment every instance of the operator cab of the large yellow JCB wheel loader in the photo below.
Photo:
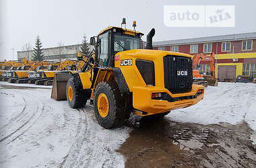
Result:
{"label": "operator cab of the large yellow JCB wheel loader", "polygon": [[117,52],[141,49],[141,36],[143,34],[135,30],[108,27],[98,34],[97,42],[92,37],[90,44],[96,46],[96,62],[98,62],[98,67],[114,67],[115,54]]}

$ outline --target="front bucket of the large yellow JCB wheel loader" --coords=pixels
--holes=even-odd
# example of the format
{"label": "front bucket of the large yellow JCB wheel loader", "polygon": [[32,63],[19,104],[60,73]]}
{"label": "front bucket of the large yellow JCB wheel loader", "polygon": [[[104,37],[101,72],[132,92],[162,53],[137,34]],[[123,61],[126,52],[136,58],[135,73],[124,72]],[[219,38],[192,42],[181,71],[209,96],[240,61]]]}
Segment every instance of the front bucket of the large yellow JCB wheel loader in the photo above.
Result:
{"label": "front bucket of the large yellow JCB wheel loader", "polygon": [[66,87],[67,81],[71,77],[71,73],[55,73],[54,80],[53,80],[53,89],[51,98],[56,100],[65,100],[66,97]]}

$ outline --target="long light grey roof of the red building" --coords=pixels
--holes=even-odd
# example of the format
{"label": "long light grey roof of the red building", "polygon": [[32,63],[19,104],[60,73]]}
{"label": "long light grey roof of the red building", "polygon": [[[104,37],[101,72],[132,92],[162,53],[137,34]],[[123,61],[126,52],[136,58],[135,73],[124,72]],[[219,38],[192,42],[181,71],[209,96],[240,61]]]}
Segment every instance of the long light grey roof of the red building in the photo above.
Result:
{"label": "long light grey roof of the red building", "polygon": [[177,44],[196,44],[203,42],[219,42],[219,41],[234,41],[256,38],[256,32],[241,33],[241,34],[228,34],[222,36],[208,36],[202,38],[187,38],[179,40],[166,40],[160,42],[153,42],[153,46],[170,46]]}

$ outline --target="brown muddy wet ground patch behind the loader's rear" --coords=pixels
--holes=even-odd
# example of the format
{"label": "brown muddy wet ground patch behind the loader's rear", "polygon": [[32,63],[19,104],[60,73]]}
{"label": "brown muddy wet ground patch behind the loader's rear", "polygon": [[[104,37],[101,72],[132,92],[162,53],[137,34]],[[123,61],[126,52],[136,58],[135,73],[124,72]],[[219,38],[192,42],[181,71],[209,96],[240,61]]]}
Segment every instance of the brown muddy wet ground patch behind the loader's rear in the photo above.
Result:
{"label": "brown muddy wet ground patch behind the loader's rear", "polygon": [[125,167],[256,167],[246,122],[202,125],[131,116],[134,128],[118,150]]}

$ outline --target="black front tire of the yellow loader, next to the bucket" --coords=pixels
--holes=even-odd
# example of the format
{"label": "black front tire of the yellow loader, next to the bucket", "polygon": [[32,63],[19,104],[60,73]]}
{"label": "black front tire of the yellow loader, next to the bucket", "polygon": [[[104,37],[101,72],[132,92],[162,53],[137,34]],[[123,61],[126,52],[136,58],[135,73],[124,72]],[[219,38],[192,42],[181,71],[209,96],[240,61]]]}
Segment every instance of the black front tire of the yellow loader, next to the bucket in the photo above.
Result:
{"label": "black front tire of the yellow loader, next to the bucket", "polygon": [[[73,99],[71,100],[69,99],[69,87],[73,90]],[[71,77],[69,81],[67,81],[66,96],[70,108],[82,108],[90,98],[90,91],[85,91],[81,86],[77,87],[73,77]]]}

